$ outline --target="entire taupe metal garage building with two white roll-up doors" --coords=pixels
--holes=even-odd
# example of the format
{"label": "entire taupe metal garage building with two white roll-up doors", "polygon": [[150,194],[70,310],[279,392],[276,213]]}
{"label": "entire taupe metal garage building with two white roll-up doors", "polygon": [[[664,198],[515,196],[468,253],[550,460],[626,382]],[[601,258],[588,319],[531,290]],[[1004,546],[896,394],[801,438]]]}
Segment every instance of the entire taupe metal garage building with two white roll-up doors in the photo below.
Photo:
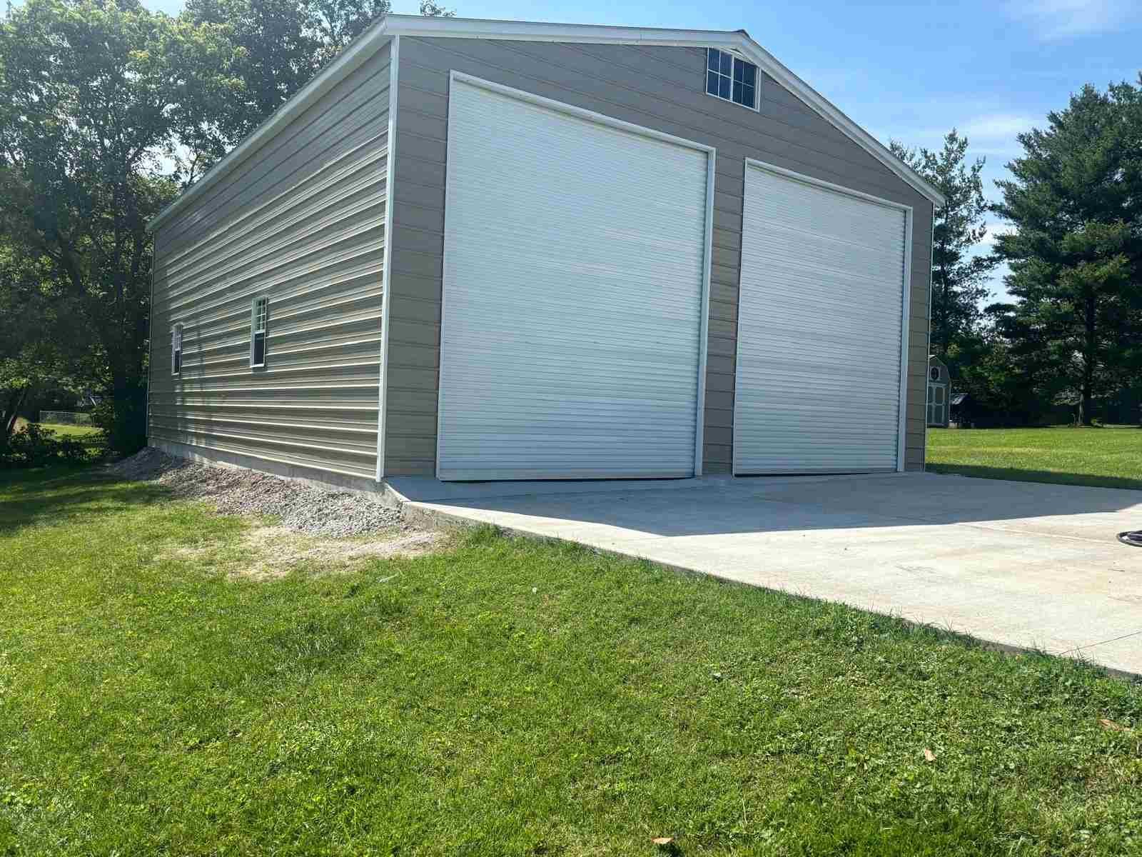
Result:
{"label": "entire taupe metal garage building with two white roll-up doors", "polygon": [[940,202],[745,32],[389,15],[151,224],[151,442],[362,488],[920,468]]}

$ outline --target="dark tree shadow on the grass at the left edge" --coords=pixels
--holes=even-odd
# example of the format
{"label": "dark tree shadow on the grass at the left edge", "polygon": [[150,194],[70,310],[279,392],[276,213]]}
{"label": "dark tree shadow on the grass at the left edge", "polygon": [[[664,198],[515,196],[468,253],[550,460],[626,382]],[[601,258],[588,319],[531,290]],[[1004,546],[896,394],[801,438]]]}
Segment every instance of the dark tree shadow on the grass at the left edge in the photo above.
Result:
{"label": "dark tree shadow on the grass at the left edge", "polygon": [[118,514],[169,496],[166,488],[126,482],[94,465],[0,471],[0,535]]}

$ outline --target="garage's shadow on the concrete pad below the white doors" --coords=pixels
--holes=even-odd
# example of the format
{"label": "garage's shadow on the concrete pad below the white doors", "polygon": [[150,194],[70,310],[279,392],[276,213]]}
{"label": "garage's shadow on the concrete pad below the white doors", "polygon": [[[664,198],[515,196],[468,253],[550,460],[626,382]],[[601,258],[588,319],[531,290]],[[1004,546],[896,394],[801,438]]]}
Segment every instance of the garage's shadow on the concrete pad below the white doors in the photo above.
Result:
{"label": "garage's shadow on the concrete pad below the white doors", "polygon": [[[1142,528],[1142,491],[958,475],[886,474],[616,482],[394,479],[412,503],[500,512],[562,524],[606,524],[657,536],[844,530],[1028,520],[1056,535]],[[1125,514],[1124,514],[1125,513]],[[1107,520],[1077,516],[1108,515]],[[1117,518],[1118,520],[1113,520]],[[1117,530],[1115,529],[1117,527]],[[1080,532],[1080,535],[1083,535]],[[1085,536],[1084,536],[1085,537]]]}

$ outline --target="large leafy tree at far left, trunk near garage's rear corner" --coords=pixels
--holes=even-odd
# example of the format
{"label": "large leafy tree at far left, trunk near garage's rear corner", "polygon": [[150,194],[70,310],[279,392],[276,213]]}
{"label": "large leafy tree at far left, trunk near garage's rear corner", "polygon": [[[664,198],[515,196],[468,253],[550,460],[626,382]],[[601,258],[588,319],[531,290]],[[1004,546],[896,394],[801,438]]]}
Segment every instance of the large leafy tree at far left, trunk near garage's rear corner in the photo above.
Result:
{"label": "large leafy tree at far left, trunk near garage's rear corner", "polygon": [[146,223],[177,192],[170,159],[239,86],[233,54],[223,29],[137,0],[29,0],[0,25],[0,230],[102,354],[122,450],[143,442]]}

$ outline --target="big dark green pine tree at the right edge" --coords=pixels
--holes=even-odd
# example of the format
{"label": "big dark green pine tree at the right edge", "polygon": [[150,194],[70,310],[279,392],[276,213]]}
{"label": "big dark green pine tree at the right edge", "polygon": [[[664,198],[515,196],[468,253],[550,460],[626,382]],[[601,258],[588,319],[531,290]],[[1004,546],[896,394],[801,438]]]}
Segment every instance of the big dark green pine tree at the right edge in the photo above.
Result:
{"label": "big dark green pine tree at the right edge", "polygon": [[1079,405],[1136,381],[1142,337],[1142,89],[1084,87],[997,182],[1013,304],[997,307],[1027,382]]}

